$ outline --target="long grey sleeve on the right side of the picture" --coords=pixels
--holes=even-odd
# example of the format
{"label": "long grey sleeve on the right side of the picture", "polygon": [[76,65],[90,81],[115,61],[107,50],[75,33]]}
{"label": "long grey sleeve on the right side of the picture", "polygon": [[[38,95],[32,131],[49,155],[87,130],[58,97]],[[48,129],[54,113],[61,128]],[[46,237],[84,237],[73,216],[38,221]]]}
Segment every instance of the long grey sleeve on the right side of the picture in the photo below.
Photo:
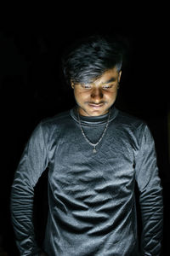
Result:
{"label": "long grey sleeve on the right side of the picture", "polygon": [[143,222],[142,255],[158,256],[161,253],[163,225],[162,189],[156,164],[155,143],[147,125],[136,157],[136,181]]}

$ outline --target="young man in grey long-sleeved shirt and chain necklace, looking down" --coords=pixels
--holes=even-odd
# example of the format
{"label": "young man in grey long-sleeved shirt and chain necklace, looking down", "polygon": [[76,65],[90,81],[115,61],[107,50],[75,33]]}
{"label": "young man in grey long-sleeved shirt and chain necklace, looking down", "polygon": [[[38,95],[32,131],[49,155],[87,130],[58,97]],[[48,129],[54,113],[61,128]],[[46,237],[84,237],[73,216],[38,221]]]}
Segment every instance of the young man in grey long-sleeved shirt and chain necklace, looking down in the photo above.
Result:
{"label": "young man in grey long-sleeved shirt and chain necklace, looking down", "polygon": [[[137,256],[134,185],[143,220],[141,255],[160,255],[161,184],[148,126],[115,108],[122,52],[88,38],[63,59],[77,106],[42,120],[15,173],[11,211],[20,255]],[[48,224],[37,247],[34,187],[48,167]]]}

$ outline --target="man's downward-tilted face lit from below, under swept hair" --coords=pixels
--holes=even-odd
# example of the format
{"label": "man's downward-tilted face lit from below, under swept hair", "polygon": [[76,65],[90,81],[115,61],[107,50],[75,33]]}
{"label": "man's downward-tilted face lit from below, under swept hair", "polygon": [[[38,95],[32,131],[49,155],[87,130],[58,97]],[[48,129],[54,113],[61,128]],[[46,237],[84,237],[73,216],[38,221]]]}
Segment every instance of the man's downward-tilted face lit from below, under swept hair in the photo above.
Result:
{"label": "man's downward-tilted face lit from below, under swept hair", "polygon": [[71,83],[79,113],[84,116],[99,116],[107,113],[116,101],[121,73],[114,67],[90,84]]}

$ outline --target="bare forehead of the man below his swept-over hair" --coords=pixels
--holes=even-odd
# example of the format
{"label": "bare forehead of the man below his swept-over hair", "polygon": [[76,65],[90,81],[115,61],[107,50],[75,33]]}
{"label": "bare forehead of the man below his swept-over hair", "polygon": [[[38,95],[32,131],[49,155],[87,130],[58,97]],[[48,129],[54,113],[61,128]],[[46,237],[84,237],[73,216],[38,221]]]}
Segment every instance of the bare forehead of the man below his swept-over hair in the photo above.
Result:
{"label": "bare forehead of the man below his swept-over hair", "polygon": [[92,84],[105,84],[114,82],[118,77],[119,72],[117,71],[116,67],[113,67],[103,73],[98,79],[94,79]]}

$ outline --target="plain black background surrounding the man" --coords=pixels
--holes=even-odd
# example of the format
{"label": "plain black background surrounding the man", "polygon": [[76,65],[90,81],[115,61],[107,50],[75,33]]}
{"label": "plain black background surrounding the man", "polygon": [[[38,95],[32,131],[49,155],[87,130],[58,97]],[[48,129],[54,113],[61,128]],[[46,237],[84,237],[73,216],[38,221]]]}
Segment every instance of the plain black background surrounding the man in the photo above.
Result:
{"label": "plain black background surrounding the man", "polygon": [[[74,98],[62,77],[60,56],[76,38],[93,33],[119,34],[126,61],[116,107],[144,119],[155,138],[164,193],[162,255],[167,255],[169,215],[169,34],[165,5],[59,3],[59,6],[1,8],[1,210],[0,247],[18,255],[10,222],[9,195],[14,171],[31,131],[48,116],[72,108]],[[36,188],[37,240],[47,217],[47,173]],[[41,216],[41,218],[40,218]]]}

